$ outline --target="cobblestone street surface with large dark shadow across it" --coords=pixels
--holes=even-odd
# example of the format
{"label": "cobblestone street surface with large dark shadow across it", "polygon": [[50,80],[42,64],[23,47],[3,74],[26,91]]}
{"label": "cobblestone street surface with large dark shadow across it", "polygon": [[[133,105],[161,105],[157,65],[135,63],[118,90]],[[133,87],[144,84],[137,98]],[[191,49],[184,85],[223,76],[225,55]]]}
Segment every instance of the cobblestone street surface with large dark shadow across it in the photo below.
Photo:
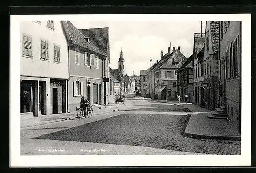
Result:
{"label": "cobblestone street surface with large dark shadow across it", "polygon": [[[44,128],[25,129],[22,131],[22,151],[26,153],[26,146],[31,148],[32,143],[37,143],[36,149],[38,149],[40,148],[38,145],[41,145],[41,148],[56,146],[63,148],[67,142],[73,142],[72,147],[74,147],[78,142],[83,148],[86,148],[87,144],[92,147],[93,143],[111,145],[112,152],[104,154],[120,154],[120,152],[114,152],[117,145],[117,149],[125,146],[123,150],[128,150],[127,146],[136,146],[141,150],[149,147],[172,151],[175,154],[186,152],[191,154],[241,154],[241,141],[185,137],[184,131],[189,121],[189,112],[191,112],[187,108],[136,97],[127,98],[126,105],[128,106],[126,110],[92,117],[90,121],[85,119],[59,122],[45,125],[45,130]],[[52,127],[49,128],[49,126]],[[25,137],[26,135],[30,137]],[[36,141],[40,141],[40,144]],[[44,141],[51,142],[44,143]],[[152,151],[149,154],[163,154],[164,151]],[[24,152],[22,154],[25,154]]]}

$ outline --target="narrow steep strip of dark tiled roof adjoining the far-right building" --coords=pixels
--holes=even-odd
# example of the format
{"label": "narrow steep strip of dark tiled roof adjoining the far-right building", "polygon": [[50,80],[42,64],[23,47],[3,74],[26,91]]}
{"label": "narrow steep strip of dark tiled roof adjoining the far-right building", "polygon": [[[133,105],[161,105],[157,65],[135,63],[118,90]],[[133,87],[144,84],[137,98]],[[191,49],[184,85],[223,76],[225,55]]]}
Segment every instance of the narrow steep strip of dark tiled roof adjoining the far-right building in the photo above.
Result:
{"label": "narrow steep strip of dark tiled roof adjoining the far-right building", "polygon": [[212,50],[214,53],[219,52],[219,21],[210,21],[210,33]]}

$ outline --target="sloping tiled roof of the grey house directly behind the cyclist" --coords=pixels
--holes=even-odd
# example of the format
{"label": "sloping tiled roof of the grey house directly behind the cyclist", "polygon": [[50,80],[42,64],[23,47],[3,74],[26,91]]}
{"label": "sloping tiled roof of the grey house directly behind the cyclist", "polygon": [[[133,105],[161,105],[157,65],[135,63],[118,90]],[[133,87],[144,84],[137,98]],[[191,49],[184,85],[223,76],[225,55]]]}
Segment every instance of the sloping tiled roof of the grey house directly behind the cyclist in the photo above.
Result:
{"label": "sloping tiled roof of the grey house directly behind the cyclist", "polygon": [[86,39],[84,39],[85,36],[70,21],[67,21],[67,25],[68,25],[69,35],[71,38],[71,43],[75,43],[76,45],[86,50],[92,51],[94,53],[107,56],[107,54],[101,51],[98,47],[96,47],[90,41],[90,39],[89,39],[89,42],[86,41]]}

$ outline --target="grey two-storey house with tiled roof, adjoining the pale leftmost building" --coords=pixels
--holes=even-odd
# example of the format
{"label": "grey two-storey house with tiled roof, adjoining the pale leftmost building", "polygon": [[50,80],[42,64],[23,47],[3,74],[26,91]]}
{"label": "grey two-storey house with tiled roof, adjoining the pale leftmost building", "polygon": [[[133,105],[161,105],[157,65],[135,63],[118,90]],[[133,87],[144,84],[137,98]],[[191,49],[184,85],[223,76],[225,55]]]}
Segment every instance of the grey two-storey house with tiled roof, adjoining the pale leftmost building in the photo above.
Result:
{"label": "grey two-storey house with tiled roof, adjoining the pale leftmost building", "polygon": [[70,21],[62,21],[62,26],[69,42],[68,111],[76,112],[83,95],[92,106],[103,106],[104,60],[108,55]]}

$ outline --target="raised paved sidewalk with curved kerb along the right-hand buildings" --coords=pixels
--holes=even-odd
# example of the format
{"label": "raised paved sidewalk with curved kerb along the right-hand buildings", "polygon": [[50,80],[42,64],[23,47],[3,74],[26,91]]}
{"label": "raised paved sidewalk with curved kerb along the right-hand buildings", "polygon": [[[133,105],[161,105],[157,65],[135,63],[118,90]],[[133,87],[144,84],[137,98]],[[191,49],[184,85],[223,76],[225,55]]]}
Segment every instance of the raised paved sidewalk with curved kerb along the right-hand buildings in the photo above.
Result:
{"label": "raised paved sidewalk with curved kerb along the right-hand buildings", "polygon": [[[151,100],[151,99],[148,99]],[[161,103],[169,103],[188,108],[197,114],[191,114],[185,135],[188,137],[204,138],[204,139],[224,139],[241,141],[241,133],[238,132],[236,126],[227,119],[209,119],[207,114],[210,110],[201,108],[200,106],[177,101],[153,100]]]}

